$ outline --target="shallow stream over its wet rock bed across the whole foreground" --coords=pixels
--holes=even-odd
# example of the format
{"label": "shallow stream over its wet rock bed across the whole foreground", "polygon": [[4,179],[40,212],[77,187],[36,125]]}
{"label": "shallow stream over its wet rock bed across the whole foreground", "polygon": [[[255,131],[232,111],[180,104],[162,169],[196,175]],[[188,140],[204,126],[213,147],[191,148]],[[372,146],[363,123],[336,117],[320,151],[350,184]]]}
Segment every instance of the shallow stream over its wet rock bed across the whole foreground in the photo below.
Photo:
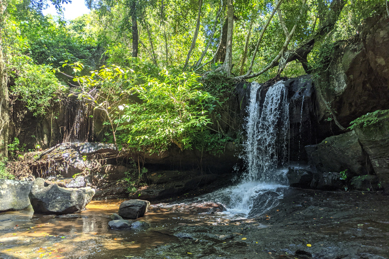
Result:
{"label": "shallow stream over its wet rock bed across the whole foreground", "polygon": [[[122,200],[92,201],[78,214],[0,214],[0,258],[312,258],[389,255],[389,201],[380,193],[285,188],[255,218],[172,212],[153,204],[145,230],[108,228]],[[237,214],[235,214],[237,215]],[[310,245],[310,246],[308,246]],[[291,256],[291,257],[288,257]],[[296,257],[297,256],[297,257]]]}

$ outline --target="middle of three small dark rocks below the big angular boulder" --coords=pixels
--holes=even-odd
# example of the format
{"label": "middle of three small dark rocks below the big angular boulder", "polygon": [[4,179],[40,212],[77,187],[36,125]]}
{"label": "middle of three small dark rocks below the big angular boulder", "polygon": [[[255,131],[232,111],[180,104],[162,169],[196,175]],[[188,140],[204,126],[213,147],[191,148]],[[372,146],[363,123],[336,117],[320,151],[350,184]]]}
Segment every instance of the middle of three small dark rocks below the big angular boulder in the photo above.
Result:
{"label": "middle of three small dark rocks below the big angular boulder", "polygon": [[343,190],[346,181],[340,179],[338,172],[318,172],[314,174],[314,179],[310,187],[318,190]]}

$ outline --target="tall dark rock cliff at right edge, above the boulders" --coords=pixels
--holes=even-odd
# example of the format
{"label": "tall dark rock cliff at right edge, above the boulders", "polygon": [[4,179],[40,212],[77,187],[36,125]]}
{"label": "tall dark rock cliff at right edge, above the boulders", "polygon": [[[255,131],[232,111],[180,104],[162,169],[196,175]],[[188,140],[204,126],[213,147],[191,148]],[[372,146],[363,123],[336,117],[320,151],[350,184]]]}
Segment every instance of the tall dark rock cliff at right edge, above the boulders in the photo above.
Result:
{"label": "tall dark rock cliff at right edge, above the boulders", "polygon": [[[336,46],[328,69],[317,80],[316,106],[322,139],[331,135],[325,120],[333,115],[346,128],[368,112],[389,109],[387,46],[389,19],[381,16],[368,18],[353,41]],[[342,133],[334,123],[331,130]]]}

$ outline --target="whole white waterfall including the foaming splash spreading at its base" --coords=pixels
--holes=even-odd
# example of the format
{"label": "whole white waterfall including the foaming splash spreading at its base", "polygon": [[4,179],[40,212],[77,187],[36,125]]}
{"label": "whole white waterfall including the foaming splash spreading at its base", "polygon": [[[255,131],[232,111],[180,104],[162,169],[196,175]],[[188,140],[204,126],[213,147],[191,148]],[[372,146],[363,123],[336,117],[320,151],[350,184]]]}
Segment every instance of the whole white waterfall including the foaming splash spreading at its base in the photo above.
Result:
{"label": "whole white waterfall including the foaming splash spreading at its base", "polygon": [[224,188],[200,197],[222,203],[227,213],[243,217],[255,217],[276,206],[283,197],[285,165],[288,158],[287,140],[289,134],[289,104],[287,89],[283,81],[271,86],[265,96],[262,108],[257,100],[261,85],[252,82],[247,108],[244,160],[246,172],[240,184]]}

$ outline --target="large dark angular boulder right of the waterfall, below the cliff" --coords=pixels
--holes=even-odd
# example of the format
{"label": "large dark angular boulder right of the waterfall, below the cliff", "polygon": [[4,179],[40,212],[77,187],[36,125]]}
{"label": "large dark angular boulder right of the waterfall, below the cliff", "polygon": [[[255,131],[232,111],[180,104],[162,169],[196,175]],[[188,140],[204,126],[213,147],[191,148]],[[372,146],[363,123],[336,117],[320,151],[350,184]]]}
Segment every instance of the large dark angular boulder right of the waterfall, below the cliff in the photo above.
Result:
{"label": "large dark angular boulder right of the waterfall, below the cliff", "polygon": [[318,145],[306,146],[309,161],[320,172],[340,172],[347,169],[352,175],[367,175],[370,162],[357,134],[352,131],[326,138]]}

